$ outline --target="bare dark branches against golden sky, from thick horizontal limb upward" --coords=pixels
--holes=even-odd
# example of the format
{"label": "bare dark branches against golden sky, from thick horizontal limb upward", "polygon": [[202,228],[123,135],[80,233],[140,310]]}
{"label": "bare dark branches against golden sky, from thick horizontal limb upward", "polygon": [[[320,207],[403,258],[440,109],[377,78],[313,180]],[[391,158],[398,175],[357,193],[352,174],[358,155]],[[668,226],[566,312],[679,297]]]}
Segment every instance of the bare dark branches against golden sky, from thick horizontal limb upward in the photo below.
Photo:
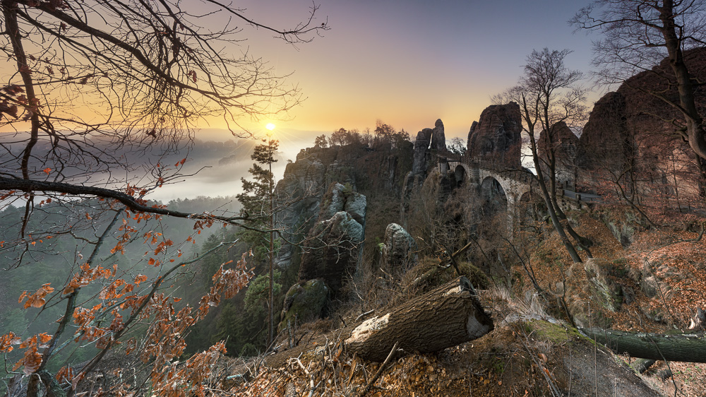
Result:
{"label": "bare dark branches against golden sky, from thick horizontal limb upward", "polygon": [[261,59],[237,55],[244,28],[235,23],[293,43],[328,28],[315,23],[317,6],[304,23],[282,30],[217,0],[194,8],[166,0],[0,6],[0,48],[16,63],[4,71],[0,90],[0,127],[16,131],[1,147],[0,189],[28,194],[28,213],[36,191],[114,198],[152,211],[126,191],[126,182],[137,192],[160,186],[183,162],[155,161],[141,180],[126,153],[169,153],[191,138],[192,127],[214,117],[246,135],[239,117],[271,117],[301,100],[297,87]]}

